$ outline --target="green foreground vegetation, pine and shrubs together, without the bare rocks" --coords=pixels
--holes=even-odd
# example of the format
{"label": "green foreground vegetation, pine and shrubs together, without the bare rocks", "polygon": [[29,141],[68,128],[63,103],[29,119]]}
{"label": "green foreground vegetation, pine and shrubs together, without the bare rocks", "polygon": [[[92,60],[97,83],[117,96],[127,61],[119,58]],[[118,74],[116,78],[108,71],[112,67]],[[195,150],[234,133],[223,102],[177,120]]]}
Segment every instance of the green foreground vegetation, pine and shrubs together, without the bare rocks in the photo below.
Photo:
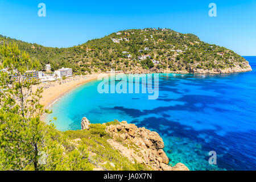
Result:
{"label": "green foreground vegetation, pine and shrubs together, without the bare rocks", "polygon": [[35,80],[22,77],[37,64],[16,44],[3,45],[0,51],[2,68],[8,68],[0,72],[0,170],[148,169],[110,146],[105,125],[60,132],[40,121],[42,114],[51,113],[39,104],[43,90],[32,92]]}

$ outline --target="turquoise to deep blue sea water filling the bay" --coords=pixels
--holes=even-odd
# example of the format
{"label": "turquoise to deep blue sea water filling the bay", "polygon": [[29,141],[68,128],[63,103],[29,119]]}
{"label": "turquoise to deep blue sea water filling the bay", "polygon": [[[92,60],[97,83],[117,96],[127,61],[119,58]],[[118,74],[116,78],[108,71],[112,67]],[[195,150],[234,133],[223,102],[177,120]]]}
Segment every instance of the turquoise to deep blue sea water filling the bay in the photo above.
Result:
{"label": "turquoise to deep blue sea water filling the bay", "polygon": [[[118,119],[156,131],[170,164],[191,170],[256,170],[256,57],[252,72],[222,75],[159,74],[159,97],[148,94],[100,94],[92,81],[51,106],[56,128],[81,129]],[[117,83],[116,83],[117,84]],[[217,164],[208,163],[216,151]]]}

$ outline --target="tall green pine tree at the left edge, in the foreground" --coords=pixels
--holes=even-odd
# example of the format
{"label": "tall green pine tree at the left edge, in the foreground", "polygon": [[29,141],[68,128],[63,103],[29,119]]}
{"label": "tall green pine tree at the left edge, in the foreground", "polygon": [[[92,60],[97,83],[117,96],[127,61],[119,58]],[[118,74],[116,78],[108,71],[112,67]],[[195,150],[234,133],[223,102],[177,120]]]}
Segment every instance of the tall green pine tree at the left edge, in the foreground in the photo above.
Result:
{"label": "tall green pine tree at the left edge, in the foreground", "polygon": [[49,113],[39,103],[43,90],[32,92],[36,80],[27,72],[36,69],[38,62],[32,62],[16,44],[4,43],[0,51],[4,57],[0,73],[0,169],[32,166],[38,170],[46,129],[40,116]]}

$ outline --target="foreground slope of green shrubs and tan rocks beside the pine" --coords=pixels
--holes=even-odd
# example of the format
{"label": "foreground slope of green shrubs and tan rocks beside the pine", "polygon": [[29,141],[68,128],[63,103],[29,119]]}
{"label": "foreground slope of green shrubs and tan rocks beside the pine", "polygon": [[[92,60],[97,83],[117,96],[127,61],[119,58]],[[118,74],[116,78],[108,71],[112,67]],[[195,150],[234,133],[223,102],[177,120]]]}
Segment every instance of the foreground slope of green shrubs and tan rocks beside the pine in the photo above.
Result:
{"label": "foreground slope of green shrubs and tan rocks beside the pine", "polygon": [[[83,118],[82,122],[84,121]],[[46,139],[38,169],[41,171],[188,171],[182,163],[171,164],[163,151],[162,138],[150,130],[127,122],[112,121],[90,124],[83,130],[58,131],[44,125]],[[118,129],[118,130],[117,130]],[[119,130],[120,129],[120,130]],[[145,143],[144,143],[145,142]],[[18,156],[12,158],[15,162]],[[22,160],[16,169],[3,158],[0,170],[33,171],[30,162]]]}

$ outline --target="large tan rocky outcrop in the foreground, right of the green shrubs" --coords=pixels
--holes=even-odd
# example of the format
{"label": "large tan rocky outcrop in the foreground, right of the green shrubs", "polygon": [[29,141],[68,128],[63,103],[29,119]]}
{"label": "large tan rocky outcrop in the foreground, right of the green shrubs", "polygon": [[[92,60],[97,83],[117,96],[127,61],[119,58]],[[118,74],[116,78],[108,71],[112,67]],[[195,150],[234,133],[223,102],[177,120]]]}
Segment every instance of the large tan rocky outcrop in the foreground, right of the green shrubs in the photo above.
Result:
{"label": "large tan rocky outcrop in the foreground, right of the green shrubs", "polygon": [[109,139],[110,145],[126,156],[131,162],[145,164],[151,169],[159,171],[187,170],[184,164],[168,166],[169,159],[163,151],[163,139],[155,131],[144,127],[128,124],[126,121],[118,125],[106,127],[106,131],[113,139]]}

